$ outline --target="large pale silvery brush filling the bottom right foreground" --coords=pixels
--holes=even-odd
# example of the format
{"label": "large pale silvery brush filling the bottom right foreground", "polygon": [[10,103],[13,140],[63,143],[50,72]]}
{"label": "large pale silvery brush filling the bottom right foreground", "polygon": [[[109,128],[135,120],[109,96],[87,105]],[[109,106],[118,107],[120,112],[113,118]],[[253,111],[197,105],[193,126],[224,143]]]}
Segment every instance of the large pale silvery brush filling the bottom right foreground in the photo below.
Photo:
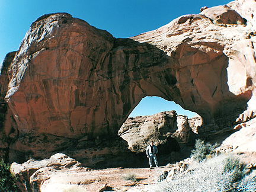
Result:
{"label": "large pale silvery brush filling the bottom right foreground", "polygon": [[242,165],[237,161],[228,161],[230,158],[232,157],[219,155],[205,161],[193,162],[186,172],[177,172],[169,182],[165,180],[159,184],[149,185],[148,191],[255,191],[252,190],[256,184],[255,177],[237,177],[231,169],[234,167],[235,170],[241,170],[244,175],[243,170],[239,169]]}

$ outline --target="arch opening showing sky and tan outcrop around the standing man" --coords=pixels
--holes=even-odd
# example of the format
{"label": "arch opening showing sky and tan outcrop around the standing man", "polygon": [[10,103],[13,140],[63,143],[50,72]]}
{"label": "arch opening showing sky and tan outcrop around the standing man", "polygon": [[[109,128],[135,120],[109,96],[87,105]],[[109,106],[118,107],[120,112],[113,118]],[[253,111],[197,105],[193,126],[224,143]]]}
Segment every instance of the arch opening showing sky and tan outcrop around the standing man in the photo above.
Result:
{"label": "arch opening showing sky and tan outcrop around the standing man", "polygon": [[[126,140],[128,149],[136,154],[136,166],[146,166],[145,150],[151,140],[158,146],[159,165],[166,165],[190,156],[193,148],[191,141],[196,133],[189,119],[195,116],[200,117],[197,113],[184,110],[174,101],[146,96],[129,114],[118,135]],[[141,161],[140,165],[138,161]]]}

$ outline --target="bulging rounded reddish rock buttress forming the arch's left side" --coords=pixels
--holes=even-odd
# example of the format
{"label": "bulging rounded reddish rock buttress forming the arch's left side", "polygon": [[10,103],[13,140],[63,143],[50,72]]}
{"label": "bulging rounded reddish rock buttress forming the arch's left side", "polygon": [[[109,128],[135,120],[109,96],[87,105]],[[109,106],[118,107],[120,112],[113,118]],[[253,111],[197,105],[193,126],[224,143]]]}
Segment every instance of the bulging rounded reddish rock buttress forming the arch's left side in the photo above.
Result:
{"label": "bulging rounded reddish rock buttress forming the arch's left side", "polygon": [[108,107],[102,98],[110,83],[104,80],[113,45],[107,31],[69,14],[37,19],[9,68],[5,99],[20,132],[106,134],[102,113]]}

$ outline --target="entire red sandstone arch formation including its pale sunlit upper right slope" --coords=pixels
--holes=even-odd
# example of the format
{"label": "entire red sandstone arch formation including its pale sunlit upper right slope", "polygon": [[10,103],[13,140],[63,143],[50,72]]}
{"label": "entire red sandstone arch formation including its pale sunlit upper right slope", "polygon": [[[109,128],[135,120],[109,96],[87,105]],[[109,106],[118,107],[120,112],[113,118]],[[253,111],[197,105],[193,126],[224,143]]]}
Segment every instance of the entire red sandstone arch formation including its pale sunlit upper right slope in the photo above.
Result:
{"label": "entire red sandstone arch formation including its pale sunlit upper right slope", "polygon": [[255,1],[238,0],[130,39],[69,14],[43,15],[9,65],[1,137],[13,139],[1,151],[45,158],[116,136],[147,95],[195,111],[200,134],[232,127],[247,105],[256,110],[254,10]]}

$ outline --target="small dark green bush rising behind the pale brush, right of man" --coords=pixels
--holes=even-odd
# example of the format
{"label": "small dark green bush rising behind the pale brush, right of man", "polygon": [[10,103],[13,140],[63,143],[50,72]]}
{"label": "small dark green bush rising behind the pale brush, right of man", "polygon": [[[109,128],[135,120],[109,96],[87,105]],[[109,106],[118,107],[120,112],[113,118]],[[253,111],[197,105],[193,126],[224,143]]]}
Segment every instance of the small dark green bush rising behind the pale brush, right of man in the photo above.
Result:
{"label": "small dark green bush rising behind the pale brush, right of man", "polygon": [[191,152],[191,158],[195,159],[198,162],[203,161],[207,156],[213,155],[215,153],[215,148],[218,144],[211,145],[210,143],[204,144],[204,140],[197,139],[195,144],[195,149]]}

